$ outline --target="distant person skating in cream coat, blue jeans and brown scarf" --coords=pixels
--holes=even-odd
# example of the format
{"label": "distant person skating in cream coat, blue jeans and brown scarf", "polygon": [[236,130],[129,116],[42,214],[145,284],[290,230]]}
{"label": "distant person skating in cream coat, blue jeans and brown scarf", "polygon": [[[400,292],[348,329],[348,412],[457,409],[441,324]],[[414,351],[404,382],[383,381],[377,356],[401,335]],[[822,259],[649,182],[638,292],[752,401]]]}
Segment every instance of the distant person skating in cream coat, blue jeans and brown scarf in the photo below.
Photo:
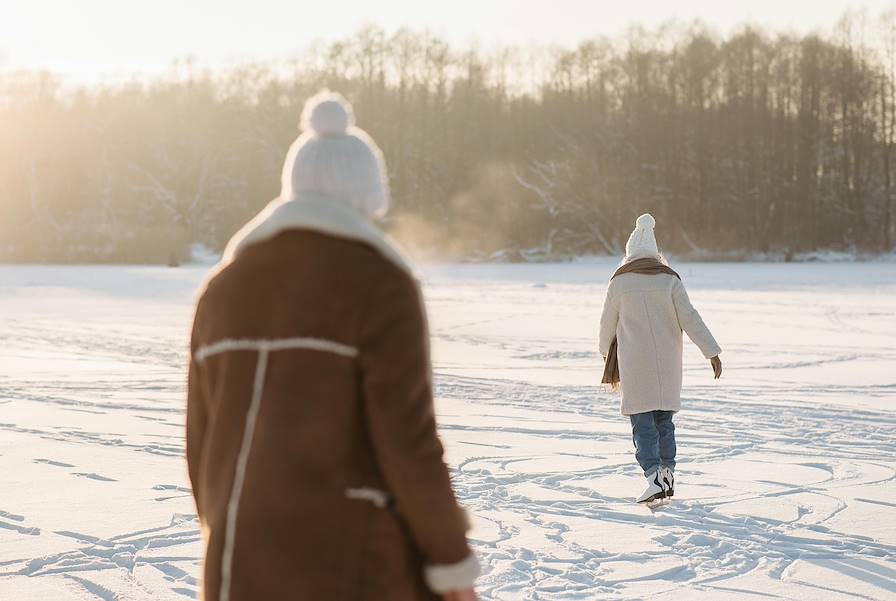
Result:
{"label": "distant person skating in cream coat, blue jeans and brown scarf", "polygon": [[[659,252],[656,221],[641,215],[625,246],[622,266],[607,287],[600,320],[600,352],[618,363],[621,410],[629,416],[635,457],[647,478],[638,502],[675,492],[675,413],[681,409],[682,331],[722,373],[721,347],[691,304],[681,278]],[[615,356],[613,356],[615,354]]]}

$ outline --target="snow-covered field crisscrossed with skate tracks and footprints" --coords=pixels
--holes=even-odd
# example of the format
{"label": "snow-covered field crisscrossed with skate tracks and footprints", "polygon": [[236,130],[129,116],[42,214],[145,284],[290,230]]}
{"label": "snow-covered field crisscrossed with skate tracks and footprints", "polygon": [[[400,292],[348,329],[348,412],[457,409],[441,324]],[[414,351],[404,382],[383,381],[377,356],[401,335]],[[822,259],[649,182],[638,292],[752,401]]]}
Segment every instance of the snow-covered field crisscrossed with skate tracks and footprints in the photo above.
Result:
{"label": "snow-covered field crisscrossed with skate tracks and footprints", "polygon": [[[672,504],[602,390],[613,264],[430,266],[437,408],[484,599],[896,598],[896,266],[683,264]],[[197,591],[183,461],[205,268],[0,267],[0,599]]]}

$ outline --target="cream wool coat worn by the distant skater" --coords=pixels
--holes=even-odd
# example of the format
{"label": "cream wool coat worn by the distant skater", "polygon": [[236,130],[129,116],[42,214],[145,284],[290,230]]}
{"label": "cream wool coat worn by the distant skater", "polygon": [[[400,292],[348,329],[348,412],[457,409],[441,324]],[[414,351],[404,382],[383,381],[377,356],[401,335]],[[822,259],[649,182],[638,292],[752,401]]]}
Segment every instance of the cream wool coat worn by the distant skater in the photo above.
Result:
{"label": "cream wool coat worn by the distant skater", "polygon": [[682,330],[707,359],[722,352],[673,275],[626,273],[611,280],[600,352],[617,339],[622,414],[681,409]]}

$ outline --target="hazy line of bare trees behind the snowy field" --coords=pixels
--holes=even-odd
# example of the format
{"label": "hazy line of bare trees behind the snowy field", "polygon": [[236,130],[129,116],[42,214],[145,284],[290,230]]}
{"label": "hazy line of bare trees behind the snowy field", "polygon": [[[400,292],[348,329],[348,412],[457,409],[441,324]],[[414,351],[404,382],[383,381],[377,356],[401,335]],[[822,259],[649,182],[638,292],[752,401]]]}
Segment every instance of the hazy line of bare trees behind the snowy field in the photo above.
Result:
{"label": "hazy line of bare trees behind the snowy field", "polygon": [[824,36],[632,29],[571,50],[368,27],[283,63],[180,63],[149,83],[0,73],[0,261],[220,249],[279,192],[302,103],[324,87],[383,148],[386,225],[421,253],[617,254],[644,211],[690,256],[894,247],[892,15]]}

